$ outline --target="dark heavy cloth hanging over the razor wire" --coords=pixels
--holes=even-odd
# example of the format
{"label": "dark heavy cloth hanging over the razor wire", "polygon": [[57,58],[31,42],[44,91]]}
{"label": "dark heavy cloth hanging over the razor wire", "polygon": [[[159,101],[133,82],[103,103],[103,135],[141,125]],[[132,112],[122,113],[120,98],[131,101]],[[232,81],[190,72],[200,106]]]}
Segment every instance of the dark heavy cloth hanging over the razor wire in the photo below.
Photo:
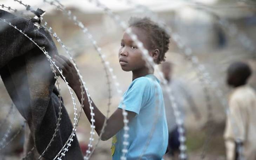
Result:
{"label": "dark heavy cloth hanging over the razor wire", "polygon": [[[17,26],[39,46],[44,46],[50,56],[58,54],[50,35],[43,28],[38,29],[34,26],[31,20],[2,10],[0,10],[0,18]],[[54,74],[49,64],[46,56],[35,44],[0,20],[0,75],[13,103],[27,120],[30,133],[25,146],[26,152],[35,145],[33,152],[42,154],[56,127],[60,102],[59,93],[54,85]],[[62,104],[59,131],[43,157],[52,160],[71,132],[72,122]],[[30,157],[29,159],[35,159]],[[62,160],[82,159],[82,152],[75,136]]]}

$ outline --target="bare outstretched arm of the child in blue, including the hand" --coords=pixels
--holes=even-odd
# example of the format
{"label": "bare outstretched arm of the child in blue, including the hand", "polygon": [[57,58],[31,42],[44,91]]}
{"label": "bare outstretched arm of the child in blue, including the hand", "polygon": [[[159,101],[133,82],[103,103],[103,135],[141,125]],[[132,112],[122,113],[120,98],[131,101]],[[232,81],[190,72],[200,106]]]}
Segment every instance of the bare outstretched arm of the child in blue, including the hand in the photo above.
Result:
{"label": "bare outstretched arm of the child in blue, including the hand", "polygon": [[[81,103],[81,97],[82,97],[81,88],[80,88],[79,76],[75,70],[75,67],[65,56],[56,55],[54,56],[54,61],[56,65],[58,65],[62,69],[62,73],[66,77],[66,80],[69,83],[69,86],[74,90],[74,92],[76,93],[76,96],[79,99],[79,102]],[[85,88],[83,88],[83,91],[85,91]],[[83,111],[85,112],[86,117],[91,123],[90,104],[88,102],[86,93],[83,94],[83,97],[84,97]],[[92,106],[94,107],[93,112],[95,114],[94,116],[95,131],[97,132],[98,135],[100,135],[100,132],[102,130],[104,120],[106,117],[96,107],[93,101],[92,101]],[[128,120],[136,116],[136,113],[134,112],[127,111],[127,113],[128,113],[127,114]],[[109,138],[113,137],[123,126],[124,126],[124,123],[123,123],[122,109],[116,109],[116,111],[107,119],[105,132],[103,132],[101,136],[101,140],[108,140]]]}

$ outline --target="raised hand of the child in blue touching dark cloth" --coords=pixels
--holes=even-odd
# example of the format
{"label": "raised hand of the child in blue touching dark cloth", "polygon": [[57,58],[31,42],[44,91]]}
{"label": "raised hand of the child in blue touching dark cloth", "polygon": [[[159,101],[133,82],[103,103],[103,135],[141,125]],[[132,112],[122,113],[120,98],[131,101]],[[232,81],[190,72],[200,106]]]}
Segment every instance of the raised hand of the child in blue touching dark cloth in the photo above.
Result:
{"label": "raised hand of the child in blue touching dark cloth", "polygon": [[[66,78],[66,81],[72,89],[80,86],[78,72],[67,57],[62,55],[54,55],[53,61],[62,70],[63,76]],[[58,75],[60,75],[60,73],[58,73]]]}

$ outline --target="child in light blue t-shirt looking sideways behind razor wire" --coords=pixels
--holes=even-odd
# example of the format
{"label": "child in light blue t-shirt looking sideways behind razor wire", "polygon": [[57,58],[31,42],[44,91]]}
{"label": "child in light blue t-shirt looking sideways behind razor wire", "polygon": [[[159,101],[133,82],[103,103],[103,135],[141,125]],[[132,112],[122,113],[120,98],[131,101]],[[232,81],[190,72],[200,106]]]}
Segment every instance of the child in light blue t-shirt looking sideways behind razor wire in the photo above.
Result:
{"label": "child in light blue t-shirt looking sideways behind razor wire", "polygon": [[[165,60],[165,53],[169,49],[170,37],[164,29],[148,18],[131,18],[129,27],[143,43],[144,48],[149,51],[149,55],[153,57],[155,63],[160,64]],[[123,104],[126,106],[125,110],[128,113],[127,118],[129,120],[129,145],[126,158],[128,160],[138,159],[142,154],[155,120],[155,105],[160,104],[159,111],[161,116],[157,119],[153,136],[146,151],[143,153],[142,159],[161,160],[167,149],[168,129],[159,80],[153,75],[154,70],[149,70],[146,67],[141,50],[138,49],[126,32],[123,34],[118,56],[122,70],[132,71],[133,73],[132,83],[123,94]],[[72,63],[64,56],[55,56],[55,62],[62,69],[70,87],[81,101],[79,77]],[[83,110],[90,121],[89,102],[86,95],[83,96],[85,96]],[[156,100],[159,100],[159,102]],[[92,105],[95,113],[95,130],[100,135],[105,116],[94,103]],[[101,137],[102,140],[108,140],[113,137],[113,160],[120,160],[122,155],[124,133],[122,107],[123,105],[120,103],[116,111],[108,118],[105,132]]]}

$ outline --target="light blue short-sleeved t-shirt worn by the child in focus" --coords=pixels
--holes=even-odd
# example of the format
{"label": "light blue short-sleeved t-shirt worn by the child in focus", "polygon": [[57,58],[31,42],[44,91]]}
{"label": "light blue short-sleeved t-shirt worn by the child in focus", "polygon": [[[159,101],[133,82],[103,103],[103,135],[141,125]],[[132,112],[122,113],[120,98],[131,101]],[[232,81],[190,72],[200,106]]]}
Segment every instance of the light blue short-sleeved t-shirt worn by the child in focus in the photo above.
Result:
{"label": "light blue short-sleeved t-shirt worn by the child in focus", "polygon": [[[159,101],[156,98],[159,98]],[[123,94],[123,103],[126,106],[125,110],[136,113],[136,116],[128,123],[127,160],[136,160],[140,157],[148,142],[158,113],[155,130],[141,160],[161,160],[167,149],[168,128],[159,80],[154,75],[134,79]],[[160,104],[158,111],[156,104]],[[118,108],[122,109],[122,103],[119,104]],[[123,133],[122,128],[113,137],[111,148],[113,160],[120,160],[122,156]]]}

